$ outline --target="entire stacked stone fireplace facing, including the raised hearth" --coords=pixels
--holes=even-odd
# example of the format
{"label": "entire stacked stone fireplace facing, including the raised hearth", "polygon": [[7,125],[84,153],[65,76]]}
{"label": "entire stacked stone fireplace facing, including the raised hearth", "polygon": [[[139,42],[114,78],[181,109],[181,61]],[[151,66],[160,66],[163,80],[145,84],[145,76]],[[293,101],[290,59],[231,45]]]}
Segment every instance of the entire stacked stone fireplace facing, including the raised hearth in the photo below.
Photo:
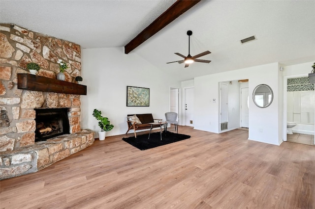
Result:
{"label": "entire stacked stone fireplace facing, including the raised hearth", "polygon": [[[94,132],[80,127],[80,95],[17,88],[17,74],[39,64],[37,76],[56,78],[58,59],[68,63],[65,81],[81,75],[80,46],[12,24],[0,24],[0,178],[32,173],[93,144]],[[69,107],[70,133],[35,141],[34,108]]]}

